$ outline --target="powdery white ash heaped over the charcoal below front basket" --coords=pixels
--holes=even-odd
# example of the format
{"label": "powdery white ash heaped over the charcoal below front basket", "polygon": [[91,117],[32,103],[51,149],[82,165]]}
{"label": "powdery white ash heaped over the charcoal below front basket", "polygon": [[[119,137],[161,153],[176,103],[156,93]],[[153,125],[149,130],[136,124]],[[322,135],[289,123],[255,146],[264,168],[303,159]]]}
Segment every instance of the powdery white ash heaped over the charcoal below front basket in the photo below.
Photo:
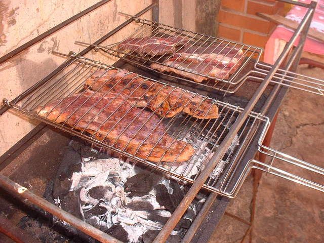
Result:
{"label": "powdery white ash heaped over the charcoal below front basket", "polygon": [[[131,197],[125,191],[125,183],[128,178],[136,174],[135,166],[130,161],[123,161],[119,158],[83,160],[81,172],[74,172],[70,178],[72,181],[70,190],[78,190],[79,198],[82,201],[82,212],[87,214],[95,206],[105,208],[104,215],[91,215],[86,221],[101,230],[109,229],[113,224],[120,224],[128,232],[128,241],[137,243],[140,236],[147,230],[160,229],[161,223],[147,219],[145,211],[135,211],[126,208],[129,203],[149,203],[153,210],[162,210],[161,214],[170,217],[169,211],[160,206],[156,201],[156,190],[152,189],[147,195]],[[161,182],[168,190],[169,179]],[[94,198],[89,191],[92,188],[102,186],[106,189],[102,198]],[[170,189],[171,188],[171,189]],[[60,205],[59,198],[56,204]],[[173,232],[176,234],[177,232]]]}

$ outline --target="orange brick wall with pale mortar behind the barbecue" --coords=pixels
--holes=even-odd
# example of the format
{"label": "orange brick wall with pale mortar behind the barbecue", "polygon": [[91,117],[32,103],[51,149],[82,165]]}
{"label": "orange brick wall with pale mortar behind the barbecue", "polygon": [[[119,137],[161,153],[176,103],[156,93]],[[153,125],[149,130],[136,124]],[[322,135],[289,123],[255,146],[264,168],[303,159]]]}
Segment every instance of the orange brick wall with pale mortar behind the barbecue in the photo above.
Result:
{"label": "orange brick wall with pale mortar behind the barbecue", "polygon": [[284,4],[275,0],[221,0],[218,36],[264,48],[276,24],[256,13],[282,14],[283,10]]}

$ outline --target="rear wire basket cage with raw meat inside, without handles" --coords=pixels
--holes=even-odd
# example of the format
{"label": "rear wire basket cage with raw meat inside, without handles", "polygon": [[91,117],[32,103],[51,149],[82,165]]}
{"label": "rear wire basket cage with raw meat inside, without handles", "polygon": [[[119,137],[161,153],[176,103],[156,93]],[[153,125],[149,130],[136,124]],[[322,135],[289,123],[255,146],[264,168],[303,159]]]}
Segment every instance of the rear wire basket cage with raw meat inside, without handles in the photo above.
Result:
{"label": "rear wire basket cage with raw meat inside, without handles", "polygon": [[[262,49],[258,47],[226,41],[150,20],[134,18],[134,22],[139,27],[128,38],[108,46],[96,45],[96,48],[132,64],[203,87],[233,93],[235,87],[249,74],[242,74],[244,67],[252,59],[258,61],[262,53]],[[156,55],[158,45],[154,47],[141,45],[148,36],[150,39],[163,38],[164,41],[161,42],[163,45],[173,41],[177,49],[173,54]],[[132,44],[138,47],[132,50],[121,47],[120,44],[128,39],[134,39]],[[174,39],[177,41],[174,42]],[[84,42],[75,43],[91,45]],[[159,70],[152,68],[156,64]],[[208,68],[211,66],[212,68]],[[180,74],[176,70],[179,70]],[[215,70],[217,70],[216,74],[212,74]],[[198,79],[199,83],[193,79]]]}

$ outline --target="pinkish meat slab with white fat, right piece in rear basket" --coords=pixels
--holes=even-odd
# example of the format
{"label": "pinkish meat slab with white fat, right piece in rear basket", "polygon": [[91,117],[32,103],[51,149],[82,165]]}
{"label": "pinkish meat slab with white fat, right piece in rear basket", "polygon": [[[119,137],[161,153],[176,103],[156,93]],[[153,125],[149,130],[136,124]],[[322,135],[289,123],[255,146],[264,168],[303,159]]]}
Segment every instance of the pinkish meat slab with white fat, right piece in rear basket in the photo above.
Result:
{"label": "pinkish meat slab with white fat, right piece in rear basket", "polygon": [[163,64],[152,63],[151,68],[174,72],[201,83],[209,77],[227,79],[243,60],[243,51],[226,45],[190,46],[172,55]]}

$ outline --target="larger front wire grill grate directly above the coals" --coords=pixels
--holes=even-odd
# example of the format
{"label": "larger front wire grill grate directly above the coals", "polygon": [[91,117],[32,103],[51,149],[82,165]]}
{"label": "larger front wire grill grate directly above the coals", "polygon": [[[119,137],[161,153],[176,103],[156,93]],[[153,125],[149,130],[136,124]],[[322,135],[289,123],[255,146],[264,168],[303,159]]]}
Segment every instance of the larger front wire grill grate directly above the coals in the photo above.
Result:
{"label": "larger front wire grill grate directly above the coals", "polygon": [[[74,124],[67,122],[67,119],[58,122],[58,117],[60,117],[59,115],[55,116],[56,119],[51,118],[49,115],[52,114],[51,112],[55,111],[55,107],[52,107],[51,111],[48,112],[46,115],[39,113],[41,112],[42,108],[53,103],[53,101],[55,100],[55,104],[59,106],[60,102],[63,103],[64,100],[67,99],[66,97],[73,96],[75,97],[75,99],[73,100],[76,100],[77,97],[82,97],[87,92],[90,92],[90,89],[92,89],[96,84],[99,84],[98,80],[100,79],[100,77],[107,74],[107,72],[111,70],[117,70],[117,73],[125,71],[84,57],[73,56],[72,58],[74,58],[73,63],[68,65],[65,69],[63,69],[62,72],[59,72],[55,77],[50,79],[49,82],[37,88],[35,91],[33,91],[31,94],[29,94],[27,97],[25,97],[18,103],[11,103],[13,108],[18,109],[28,114],[29,116],[42,120],[71,134],[82,137],[97,145],[114,150],[120,154],[124,154],[137,161],[141,161],[146,165],[149,165],[151,167],[154,167],[158,170],[164,171],[168,174],[171,174],[191,183],[193,183],[196,180],[199,173],[204,169],[204,166],[207,164],[207,162],[217,150],[218,146],[221,144],[228,131],[231,129],[231,126],[232,124],[234,124],[238,114],[243,110],[242,108],[230,105],[229,103],[224,103],[219,100],[213,100],[205,96],[200,96],[198,94],[182,90],[182,94],[188,93],[192,95],[191,97],[199,96],[201,98],[201,102],[200,104],[196,105],[196,109],[199,108],[202,102],[208,101],[209,103],[216,104],[218,106],[219,115],[217,116],[217,118],[208,119],[197,118],[193,115],[184,112],[177,113],[176,115],[171,117],[167,117],[166,114],[160,115],[158,117],[158,124],[156,124],[156,127],[152,131],[157,129],[157,126],[163,125],[165,129],[165,133],[163,136],[171,137],[172,143],[182,142],[192,146],[194,148],[194,154],[189,160],[182,161],[181,163],[176,162],[176,158],[177,156],[179,156],[181,151],[179,151],[179,154],[175,156],[176,158],[173,161],[163,161],[161,158],[158,161],[152,161],[151,159],[149,159],[149,154],[146,155],[146,157],[139,156],[137,154],[137,152],[141,150],[141,147],[145,145],[145,140],[139,145],[139,147],[135,149],[136,152],[129,152],[129,150],[127,150],[127,146],[125,146],[124,148],[118,147],[116,143],[112,144],[105,140],[105,138],[108,136],[108,133],[111,132],[111,129],[110,131],[108,131],[107,134],[104,134],[104,136],[100,137],[102,139],[99,139],[99,137],[96,136],[96,133],[98,133],[98,129],[101,126],[103,126],[103,123],[97,124],[98,129],[96,132],[89,132],[89,130],[86,129],[87,127],[82,127],[82,129],[80,129],[80,126],[76,125],[80,120],[83,119],[83,117],[87,116],[88,113],[93,112],[93,110],[96,108],[95,106],[99,104],[98,102],[104,99],[104,97],[107,94],[110,94],[111,89],[107,90],[105,93],[102,93],[99,89],[97,89],[96,91],[92,91],[91,97],[99,97],[97,103],[87,105],[87,100],[84,102],[77,103],[77,107],[73,110],[73,113],[77,114],[77,117],[75,118],[77,122]],[[100,76],[97,76],[99,71]],[[156,80],[149,79],[141,75],[135,75],[132,72],[128,72],[127,75],[133,75],[133,79],[140,78],[142,82],[152,82],[152,85],[161,85],[163,87],[162,89],[180,89],[178,87],[157,82]],[[89,78],[94,78],[92,79],[94,80],[94,82],[90,86],[87,86],[86,83],[87,81],[89,81]],[[117,85],[123,83],[123,80],[125,79],[114,79],[113,86],[116,87]],[[105,82],[104,84],[101,84],[101,87],[106,84],[109,84],[110,81],[111,79],[105,79]],[[134,90],[133,92],[136,92],[136,88],[133,87],[132,90]],[[128,99],[132,97],[133,92],[129,94]],[[121,92],[115,93],[112,100],[117,99],[120,94]],[[90,100],[91,98],[88,97],[87,99]],[[74,101],[72,101],[69,105],[73,106],[73,102]],[[188,105],[188,103],[186,105]],[[129,112],[132,107],[135,107],[135,104],[133,104],[127,112]],[[92,120],[97,119],[99,117],[99,123],[100,113],[107,109],[107,106],[108,104],[106,104],[106,106],[103,109],[101,109],[98,113],[94,114]],[[121,102],[118,107],[123,106],[126,106],[126,101]],[[67,107],[69,106],[65,106],[65,108],[59,110],[58,112],[62,114],[64,110],[67,110]],[[117,109],[120,109],[118,107]],[[137,109],[140,109],[139,115],[148,114],[149,117],[157,117],[157,115],[154,114],[154,110],[152,110],[152,107],[148,107],[148,105],[142,105],[141,108]],[[170,107],[170,109],[172,110],[172,107]],[[127,114],[127,112],[125,113],[125,115]],[[72,117],[72,114],[69,114],[69,117]],[[110,117],[113,118],[113,115],[110,115]],[[107,117],[107,119],[112,119],[110,117]],[[146,121],[143,123],[143,126],[150,122],[149,117],[147,117]],[[232,145],[228,148],[226,155],[218,163],[217,167],[210,175],[208,181],[206,181],[204,185],[205,188],[215,192],[221,192],[222,190],[224,190],[224,188],[227,188],[226,185],[229,182],[228,179],[231,177],[230,173],[232,173],[232,171],[236,168],[237,163],[239,161],[239,155],[241,154],[243,149],[247,148],[249,139],[254,135],[256,129],[259,128],[259,126],[266,126],[267,121],[268,120],[265,116],[262,116],[258,113],[252,112],[249,115],[249,117],[245,121],[244,126],[241,127],[236,138],[233,140]],[[132,124],[133,122],[134,120],[131,120],[130,124]],[[118,126],[118,123],[120,123],[120,119],[116,119],[116,122],[113,126]],[[89,124],[87,126],[89,126]],[[121,131],[118,134],[118,137],[120,137],[126,131],[126,129],[124,129],[124,131]],[[152,133],[152,131],[150,132],[150,134]],[[135,134],[137,134],[138,132],[142,132],[141,127],[138,128],[138,131],[135,131]],[[128,144],[130,144],[130,141],[132,139],[134,139],[134,137],[130,138]],[[152,144],[152,147],[150,148],[150,153],[153,151],[155,146],[158,146],[157,143],[158,142]],[[225,170],[225,168],[227,169]],[[224,175],[224,173],[222,174],[222,172],[224,171],[226,171],[226,175]],[[219,178],[223,179],[219,180]]]}

